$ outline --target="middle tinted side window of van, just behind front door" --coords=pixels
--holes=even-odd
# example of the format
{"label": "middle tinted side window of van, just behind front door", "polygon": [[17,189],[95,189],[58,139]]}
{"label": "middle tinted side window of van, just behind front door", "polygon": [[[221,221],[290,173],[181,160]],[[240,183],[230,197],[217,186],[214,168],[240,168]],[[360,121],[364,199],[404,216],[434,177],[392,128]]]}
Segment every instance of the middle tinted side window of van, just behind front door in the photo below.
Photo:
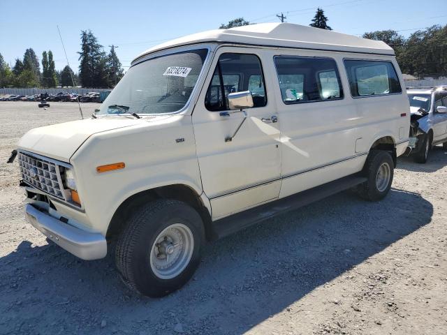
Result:
{"label": "middle tinted side window of van, just behind front door", "polygon": [[343,98],[334,59],[274,57],[284,103],[306,103]]}

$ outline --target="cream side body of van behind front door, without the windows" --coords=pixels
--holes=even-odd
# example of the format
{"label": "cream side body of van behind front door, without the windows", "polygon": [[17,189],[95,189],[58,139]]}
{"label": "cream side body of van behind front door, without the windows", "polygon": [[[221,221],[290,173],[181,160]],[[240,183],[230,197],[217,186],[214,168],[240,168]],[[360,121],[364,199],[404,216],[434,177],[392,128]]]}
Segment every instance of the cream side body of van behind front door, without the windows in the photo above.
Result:
{"label": "cream side body of van behind front door, without the windows", "polygon": [[[402,94],[353,98],[343,62],[344,58],[393,61],[402,85],[394,57],[318,50],[271,50],[272,59],[278,55],[335,59],[344,91],[342,100],[286,105],[281,99],[279,82],[275,81],[282,143],[283,180],[279,198],[359,172],[369,149],[380,137],[392,137],[395,144],[408,139],[409,107],[404,86]],[[271,64],[274,67],[273,61]]]}

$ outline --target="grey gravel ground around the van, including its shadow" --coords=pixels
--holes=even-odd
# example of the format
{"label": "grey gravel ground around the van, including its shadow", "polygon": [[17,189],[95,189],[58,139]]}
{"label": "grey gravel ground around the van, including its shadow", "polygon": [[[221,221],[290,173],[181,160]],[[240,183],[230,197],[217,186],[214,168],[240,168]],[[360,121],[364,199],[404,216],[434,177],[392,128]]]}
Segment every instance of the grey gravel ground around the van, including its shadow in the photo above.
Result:
{"label": "grey gravel ground around the van, including its shadow", "polygon": [[385,200],[344,192],[216,241],[182,290],[149,299],[110,255],[78,260],[24,220],[10,151],[78,119],[73,103],[36,105],[0,102],[0,334],[447,334],[441,147],[425,165],[400,158]]}

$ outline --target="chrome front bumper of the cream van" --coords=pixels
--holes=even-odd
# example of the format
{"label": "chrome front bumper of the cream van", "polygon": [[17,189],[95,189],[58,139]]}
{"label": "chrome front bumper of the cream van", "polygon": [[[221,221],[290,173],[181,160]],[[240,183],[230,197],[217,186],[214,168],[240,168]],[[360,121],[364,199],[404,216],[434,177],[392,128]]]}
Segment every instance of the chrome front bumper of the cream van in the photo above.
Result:
{"label": "chrome front bumper of the cream van", "polygon": [[87,232],[80,228],[68,225],[48,214],[47,211],[25,205],[27,219],[31,225],[42,232],[69,253],[82,258],[82,260],[98,260],[107,254],[105,237],[98,232]]}

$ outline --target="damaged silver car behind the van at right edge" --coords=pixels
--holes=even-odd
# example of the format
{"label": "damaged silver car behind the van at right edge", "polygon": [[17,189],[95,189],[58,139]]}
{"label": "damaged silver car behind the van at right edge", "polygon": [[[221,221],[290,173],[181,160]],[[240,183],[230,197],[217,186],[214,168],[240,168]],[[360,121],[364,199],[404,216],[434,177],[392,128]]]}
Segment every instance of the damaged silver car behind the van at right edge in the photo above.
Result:
{"label": "damaged silver car behind the van at right edge", "polygon": [[447,149],[447,86],[406,91],[411,112],[408,154],[427,162],[432,146]]}

